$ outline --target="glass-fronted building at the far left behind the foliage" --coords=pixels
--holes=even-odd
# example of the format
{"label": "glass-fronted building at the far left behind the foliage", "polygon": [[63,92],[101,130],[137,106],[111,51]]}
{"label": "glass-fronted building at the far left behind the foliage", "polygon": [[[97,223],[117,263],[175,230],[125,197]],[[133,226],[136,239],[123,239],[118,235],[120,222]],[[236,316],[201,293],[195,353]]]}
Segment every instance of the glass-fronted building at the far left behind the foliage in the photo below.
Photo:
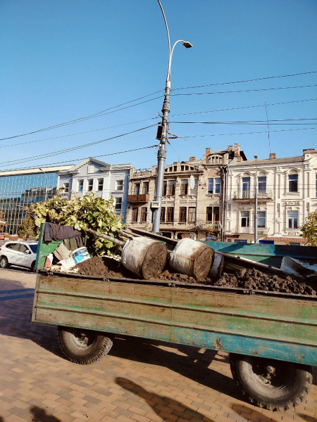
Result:
{"label": "glass-fronted building at the far left behind the foliage", "polygon": [[16,234],[18,226],[26,218],[25,206],[54,196],[57,182],[57,172],[1,175],[0,220],[6,222],[4,231]]}

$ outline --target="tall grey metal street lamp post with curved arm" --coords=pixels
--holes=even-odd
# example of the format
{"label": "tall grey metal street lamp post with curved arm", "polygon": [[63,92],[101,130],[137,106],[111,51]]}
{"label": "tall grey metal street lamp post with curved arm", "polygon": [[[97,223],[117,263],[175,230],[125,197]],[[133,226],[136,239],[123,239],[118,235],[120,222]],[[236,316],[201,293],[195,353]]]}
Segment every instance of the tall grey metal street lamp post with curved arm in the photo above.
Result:
{"label": "tall grey metal street lamp post with curved arm", "polygon": [[160,0],[158,0],[159,6],[161,8],[164,22],[166,25],[166,32],[168,35],[168,72],[166,77],[166,85],[165,85],[165,94],[164,94],[164,101],[163,101],[163,108],[162,108],[162,135],[160,140],[159,151],[157,153],[157,175],[156,175],[156,186],[155,186],[155,196],[154,196],[154,203],[151,204],[153,210],[153,227],[152,231],[154,233],[159,232],[160,228],[160,220],[161,220],[161,201],[162,201],[162,191],[163,191],[163,178],[164,178],[164,167],[165,167],[165,159],[166,159],[166,141],[168,138],[168,113],[170,113],[170,65],[172,63],[173,51],[175,49],[175,45],[179,42],[182,42],[182,45],[186,47],[186,49],[190,49],[192,44],[189,41],[183,41],[182,39],[178,39],[173,45],[173,48],[170,49],[170,32],[168,31],[168,24],[166,21],[166,16],[163,11],[163,7],[161,5]]}

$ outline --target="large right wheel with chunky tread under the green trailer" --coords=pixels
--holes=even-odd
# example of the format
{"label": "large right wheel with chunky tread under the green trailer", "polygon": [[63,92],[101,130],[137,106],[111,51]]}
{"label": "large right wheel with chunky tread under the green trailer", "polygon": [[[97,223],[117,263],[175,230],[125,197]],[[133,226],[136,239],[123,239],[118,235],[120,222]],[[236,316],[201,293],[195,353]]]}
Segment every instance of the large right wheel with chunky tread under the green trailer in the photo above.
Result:
{"label": "large right wheel with chunky tread under the green trailer", "polygon": [[230,369],[251,403],[268,410],[302,403],[313,380],[310,366],[243,354],[230,355]]}

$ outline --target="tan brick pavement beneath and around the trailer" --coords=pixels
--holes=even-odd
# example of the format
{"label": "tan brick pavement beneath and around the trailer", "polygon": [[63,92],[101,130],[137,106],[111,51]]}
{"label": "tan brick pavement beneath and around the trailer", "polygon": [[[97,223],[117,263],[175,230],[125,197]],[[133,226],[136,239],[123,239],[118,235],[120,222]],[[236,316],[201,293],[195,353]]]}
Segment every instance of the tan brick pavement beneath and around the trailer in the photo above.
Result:
{"label": "tan brick pavement beneath and around the trailer", "polygon": [[118,336],[100,362],[72,364],[56,328],[30,324],[34,287],[0,269],[0,422],[316,422],[316,372],[305,402],[273,413],[244,400],[221,352]]}

